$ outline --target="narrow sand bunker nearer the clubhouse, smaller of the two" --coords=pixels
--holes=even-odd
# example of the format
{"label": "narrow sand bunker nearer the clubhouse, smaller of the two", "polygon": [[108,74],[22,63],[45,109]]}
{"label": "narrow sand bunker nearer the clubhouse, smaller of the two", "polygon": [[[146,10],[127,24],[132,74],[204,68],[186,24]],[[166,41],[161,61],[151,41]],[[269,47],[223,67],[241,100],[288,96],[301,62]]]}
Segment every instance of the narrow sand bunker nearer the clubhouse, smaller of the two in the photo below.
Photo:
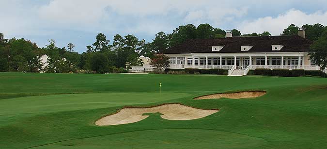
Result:
{"label": "narrow sand bunker nearer the clubhouse, smaller of the two", "polygon": [[194,98],[195,100],[200,99],[220,99],[220,98],[228,98],[228,99],[244,99],[244,98],[256,98],[260,96],[264,96],[266,91],[244,91],[237,93],[220,93],[220,94],[212,94],[207,96],[201,96]]}

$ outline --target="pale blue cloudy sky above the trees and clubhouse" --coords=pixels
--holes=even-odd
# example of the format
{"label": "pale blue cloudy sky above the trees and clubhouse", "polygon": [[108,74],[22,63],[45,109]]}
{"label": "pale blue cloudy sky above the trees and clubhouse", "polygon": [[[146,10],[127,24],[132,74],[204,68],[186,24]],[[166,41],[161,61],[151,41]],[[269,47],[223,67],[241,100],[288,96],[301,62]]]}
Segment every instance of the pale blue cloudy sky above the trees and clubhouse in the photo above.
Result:
{"label": "pale blue cloudy sky above the trees and clubhouse", "polygon": [[158,32],[209,23],[242,34],[279,35],[290,24],[327,25],[327,0],[0,0],[0,33],[45,47],[73,43],[79,53],[98,33],[134,34],[151,42]]}

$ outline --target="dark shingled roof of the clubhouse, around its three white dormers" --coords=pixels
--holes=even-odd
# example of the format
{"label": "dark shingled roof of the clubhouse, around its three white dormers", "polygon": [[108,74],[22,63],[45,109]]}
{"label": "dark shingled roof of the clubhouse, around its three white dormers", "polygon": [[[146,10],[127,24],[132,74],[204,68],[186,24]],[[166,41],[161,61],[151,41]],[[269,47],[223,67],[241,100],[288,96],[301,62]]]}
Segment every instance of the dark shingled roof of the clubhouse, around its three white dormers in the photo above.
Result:
{"label": "dark shingled roof of the clubhouse, around its three white dormers", "polygon": [[[190,39],[164,50],[164,54],[179,53],[249,53],[249,52],[308,52],[312,42],[298,35],[231,37],[219,39]],[[241,51],[241,46],[253,46],[249,51]],[[283,45],[280,51],[272,51],[272,45]],[[212,46],[224,46],[220,51],[212,51]]]}

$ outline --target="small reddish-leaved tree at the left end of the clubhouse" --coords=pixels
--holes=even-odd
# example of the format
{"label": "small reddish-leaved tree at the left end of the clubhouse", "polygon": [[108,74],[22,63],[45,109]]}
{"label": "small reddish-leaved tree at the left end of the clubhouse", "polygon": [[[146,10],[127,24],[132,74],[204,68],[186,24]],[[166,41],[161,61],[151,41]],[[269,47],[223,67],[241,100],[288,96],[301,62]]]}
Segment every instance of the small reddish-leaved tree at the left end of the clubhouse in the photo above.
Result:
{"label": "small reddish-leaved tree at the left end of the clubhouse", "polygon": [[165,54],[156,54],[155,57],[150,60],[150,66],[155,67],[159,73],[161,73],[164,68],[169,67],[169,64],[169,56]]}

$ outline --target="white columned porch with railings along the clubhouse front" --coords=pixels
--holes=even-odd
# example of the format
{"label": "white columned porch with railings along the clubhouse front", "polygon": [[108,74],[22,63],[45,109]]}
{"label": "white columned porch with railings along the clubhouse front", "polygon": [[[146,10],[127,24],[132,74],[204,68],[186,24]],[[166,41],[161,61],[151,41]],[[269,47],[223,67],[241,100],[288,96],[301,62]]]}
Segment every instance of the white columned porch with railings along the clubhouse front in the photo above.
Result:
{"label": "white columned porch with railings along the clubhouse front", "polygon": [[[221,53],[192,54],[187,56],[170,56],[171,69],[198,68],[198,69],[228,69],[253,70],[267,69],[304,69],[320,70],[314,62],[309,60],[305,53]],[[247,72],[244,72],[247,73]]]}

